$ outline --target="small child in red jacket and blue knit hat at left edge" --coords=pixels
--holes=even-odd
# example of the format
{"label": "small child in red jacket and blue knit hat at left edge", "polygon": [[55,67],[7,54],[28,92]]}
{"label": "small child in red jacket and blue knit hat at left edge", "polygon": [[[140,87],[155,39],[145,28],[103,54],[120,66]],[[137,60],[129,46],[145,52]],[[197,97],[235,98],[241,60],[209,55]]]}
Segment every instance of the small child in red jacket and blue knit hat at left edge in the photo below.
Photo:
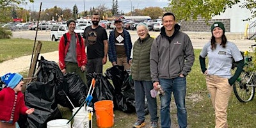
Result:
{"label": "small child in red jacket and blue knit hat at left edge", "polygon": [[6,88],[0,91],[0,127],[15,128],[19,115],[30,115],[34,108],[27,108],[21,92],[24,84],[20,74],[8,73],[1,77]]}

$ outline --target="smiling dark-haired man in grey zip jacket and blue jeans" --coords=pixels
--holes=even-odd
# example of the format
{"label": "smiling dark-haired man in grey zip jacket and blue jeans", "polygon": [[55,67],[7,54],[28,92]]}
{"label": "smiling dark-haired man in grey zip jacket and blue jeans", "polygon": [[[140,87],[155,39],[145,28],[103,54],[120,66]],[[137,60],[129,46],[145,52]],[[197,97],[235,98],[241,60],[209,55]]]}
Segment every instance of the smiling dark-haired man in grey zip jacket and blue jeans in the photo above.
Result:
{"label": "smiling dark-haired man in grey zip jacket and blue jeans", "polygon": [[165,95],[161,99],[161,127],[171,127],[170,102],[172,93],[177,106],[177,117],[180,128],[187,127],[187,111],[185,106],[186,76],[191,71],[195,55],[188,35],[179,31],[173,13],[163,15],[161,33],[150,51],[150,72],[153,86],[157,90],[159,84]]}

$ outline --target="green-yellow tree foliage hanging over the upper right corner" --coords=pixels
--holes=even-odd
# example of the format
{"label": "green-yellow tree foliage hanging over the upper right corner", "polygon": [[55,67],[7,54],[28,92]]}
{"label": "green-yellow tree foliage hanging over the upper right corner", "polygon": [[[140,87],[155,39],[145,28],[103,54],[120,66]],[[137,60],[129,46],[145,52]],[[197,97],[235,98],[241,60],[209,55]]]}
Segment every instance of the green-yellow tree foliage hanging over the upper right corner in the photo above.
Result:
{"label": "green-yellow tree foliage hanging over the upper right corner", "polygon": [[[170,4],[165,8],[169,12],[179,15],[179,20],[196,20],[198,16],[207,20],[211,20],[215,15],[224,13],[227,8],[238,4],[241,8],[247,8],[252,15],[248,15],[250,20],[256,17],[255,0],[169,0]],[[243,15],[238,14],[237,15]]]}

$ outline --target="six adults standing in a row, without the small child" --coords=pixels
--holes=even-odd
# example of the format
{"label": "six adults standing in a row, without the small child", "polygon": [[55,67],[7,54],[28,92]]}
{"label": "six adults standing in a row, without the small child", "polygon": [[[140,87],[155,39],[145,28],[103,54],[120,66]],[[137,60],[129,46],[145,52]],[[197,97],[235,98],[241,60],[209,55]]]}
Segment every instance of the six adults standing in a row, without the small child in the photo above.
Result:
{"label": "six adults standing in a row, without the small child", "polygon": [[[92,15],[92,26],[84,29],[83,38],[74,32],[75,20],[68,20],[67,40],[61,37],[59,45],[61,72],[77,72],[86,83],[86,73],[102,73],[102,66],[109,58],[113,66],[123,65],[125,70],[131,68],[137,115],[133,127],[145,126],[145,97],[148,101],[150,126],[158,127],[157,100],[150,95],[150,90],[159,90],[160,85],[164,91],[164,95],[159,95],[161,127],[172,126],[172,93],[177,106],[179,127],[187,127],[186,76],[195,61],[194,49],[189,36],[179,31],[180,26],[173,13],[164,13],[162,20],[163,28],[156,38],[148,34],[147,24],[139,23],[136,27],[139,38],[133,46],[129,32],[122,28],[121,19],[115,19],[116,28],[110,31],[108,37],[106,30],[99,26],[100,16],[95,13]],[[228,99],[232,84],[243,70],[243,56],[234,43],[227,41],[224,24],[214,22],[211,32],[211,41],[200,52],[200,65],[211,95],[216,127],[227,128]],[[207,55],[208,68],[205,66]],[[230,73],[233,58],[239,64],[234,76]]]}

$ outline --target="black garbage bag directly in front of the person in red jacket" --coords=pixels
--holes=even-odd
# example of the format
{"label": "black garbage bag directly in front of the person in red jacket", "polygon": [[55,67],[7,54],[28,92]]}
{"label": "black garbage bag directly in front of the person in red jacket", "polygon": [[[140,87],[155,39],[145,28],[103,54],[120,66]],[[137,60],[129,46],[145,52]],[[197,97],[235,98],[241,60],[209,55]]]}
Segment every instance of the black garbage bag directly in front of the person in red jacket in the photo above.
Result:
{"label": "black garbage bag directly in front of the person in red jacket", "polygon": [[[65,78],[67,79],[68,83],[68,98],[75,107],[81,106],[86,99],[86,94],[88,92],[86,84],[83,83],[82,79],[75,72],[65,74]],[[63,92],[60,92],[60,94],[63,95]],[[67,97],[65,97],[62,102],[67,102],[67,107],[71,110],[73,109],[73,107],[70,106],[71,104],[67,100]]]}

